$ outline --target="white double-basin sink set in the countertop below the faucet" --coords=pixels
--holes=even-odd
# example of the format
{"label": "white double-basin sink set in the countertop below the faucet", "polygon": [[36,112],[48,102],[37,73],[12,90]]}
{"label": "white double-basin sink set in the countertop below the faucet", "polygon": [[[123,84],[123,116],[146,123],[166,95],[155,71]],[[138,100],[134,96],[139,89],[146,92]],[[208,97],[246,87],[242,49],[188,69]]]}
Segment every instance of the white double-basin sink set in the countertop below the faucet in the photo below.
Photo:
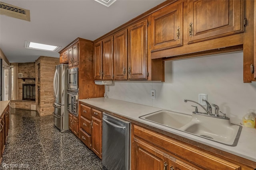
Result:
{"label": "white double-basin sink set in the countertop below the faucet", "polygon": [[161,110],[140,118],[228,146],[237,145],[242,131],[242,126],[230,123],[230,119],[218,119],[196,113],[186,115]]}

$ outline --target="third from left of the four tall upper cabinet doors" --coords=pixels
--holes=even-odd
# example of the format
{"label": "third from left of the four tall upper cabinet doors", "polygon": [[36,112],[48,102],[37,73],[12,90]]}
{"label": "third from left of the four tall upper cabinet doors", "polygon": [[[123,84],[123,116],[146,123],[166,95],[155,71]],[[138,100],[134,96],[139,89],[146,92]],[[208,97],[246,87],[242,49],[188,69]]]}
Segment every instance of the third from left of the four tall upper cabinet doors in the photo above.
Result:
{"label": "third from left of the four tall upper cabinet doors", "polygon": [[114,35],[114,80],[127,80],[127,29]]}

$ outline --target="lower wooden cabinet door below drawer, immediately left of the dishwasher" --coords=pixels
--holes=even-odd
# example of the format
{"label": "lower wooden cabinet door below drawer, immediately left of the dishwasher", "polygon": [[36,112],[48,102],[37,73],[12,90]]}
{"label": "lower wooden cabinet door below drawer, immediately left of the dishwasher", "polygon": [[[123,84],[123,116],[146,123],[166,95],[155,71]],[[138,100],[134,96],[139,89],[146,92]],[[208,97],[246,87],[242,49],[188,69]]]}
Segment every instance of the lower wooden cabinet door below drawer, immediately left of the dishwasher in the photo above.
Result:
{"label": "lower wooden cabinet door below drawer, immediately left of the dishwasher", "polygon": [[92,151],[102,158],[102,120],[92,117]]}

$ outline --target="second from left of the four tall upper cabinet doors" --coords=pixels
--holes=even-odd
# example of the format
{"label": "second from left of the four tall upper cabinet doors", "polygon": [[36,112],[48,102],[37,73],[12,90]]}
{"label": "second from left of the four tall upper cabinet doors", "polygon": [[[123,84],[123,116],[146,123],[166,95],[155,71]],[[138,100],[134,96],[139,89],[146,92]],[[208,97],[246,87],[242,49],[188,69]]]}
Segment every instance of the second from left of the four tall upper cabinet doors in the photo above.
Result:
{"label": "second from left of the four tall upper cabinet doors", "polygon": [[113,37],[102,41],[102,80],[113,80]]}

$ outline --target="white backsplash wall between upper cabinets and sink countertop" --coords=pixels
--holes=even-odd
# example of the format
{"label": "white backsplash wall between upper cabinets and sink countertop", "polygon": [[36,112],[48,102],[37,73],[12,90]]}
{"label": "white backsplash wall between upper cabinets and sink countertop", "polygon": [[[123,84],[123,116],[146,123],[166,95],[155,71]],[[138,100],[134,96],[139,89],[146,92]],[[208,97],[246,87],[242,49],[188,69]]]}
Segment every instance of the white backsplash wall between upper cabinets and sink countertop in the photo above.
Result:
{"label": "white backsplash wall between upper cabinets and sink countertop", "polygon": [[[156,90],[156,99],[150,98],[151,89]],[[192,114],[191,105],[196,104],[184,99],[198,102],[201,93],[208,94],[208,102],[217,104],[232,122],[256,113],[256,82],[243,82],[242,51],[166,61],[165,82],[114,81],[108,98]]]}

